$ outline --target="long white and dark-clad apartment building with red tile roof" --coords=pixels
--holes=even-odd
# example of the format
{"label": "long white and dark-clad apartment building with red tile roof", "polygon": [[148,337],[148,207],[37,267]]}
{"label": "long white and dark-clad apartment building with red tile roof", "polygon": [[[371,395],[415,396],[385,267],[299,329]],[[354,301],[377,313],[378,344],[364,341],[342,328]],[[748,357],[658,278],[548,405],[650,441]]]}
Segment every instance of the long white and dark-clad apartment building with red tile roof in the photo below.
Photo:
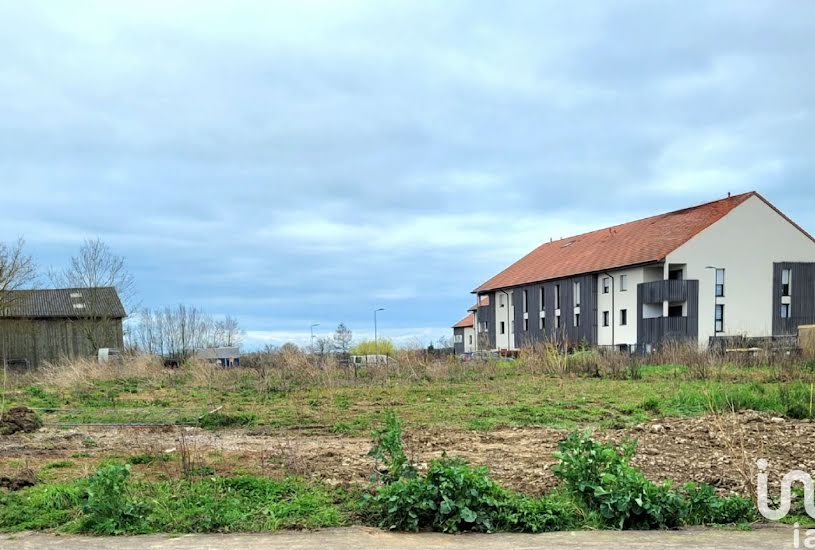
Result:
{"label": "long white and dark-clad apartment building with red tile roof", "polygon": [[744,193],[544,243],[473,292],[474,350],[785,336],[815,323],[815,239]]}

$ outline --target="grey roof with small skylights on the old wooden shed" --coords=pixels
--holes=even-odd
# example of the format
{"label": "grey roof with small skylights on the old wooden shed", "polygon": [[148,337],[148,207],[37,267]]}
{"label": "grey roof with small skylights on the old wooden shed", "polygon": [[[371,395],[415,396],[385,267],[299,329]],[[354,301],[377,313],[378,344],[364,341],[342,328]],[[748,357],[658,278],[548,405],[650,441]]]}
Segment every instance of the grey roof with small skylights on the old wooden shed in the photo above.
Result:
{"label": "grey roof with small skylights on the old wooden shed", "polygon": [[12,290],[9,295],[9,305],[0,311],[0,317],[122,319],[127,316],[113,287]]}

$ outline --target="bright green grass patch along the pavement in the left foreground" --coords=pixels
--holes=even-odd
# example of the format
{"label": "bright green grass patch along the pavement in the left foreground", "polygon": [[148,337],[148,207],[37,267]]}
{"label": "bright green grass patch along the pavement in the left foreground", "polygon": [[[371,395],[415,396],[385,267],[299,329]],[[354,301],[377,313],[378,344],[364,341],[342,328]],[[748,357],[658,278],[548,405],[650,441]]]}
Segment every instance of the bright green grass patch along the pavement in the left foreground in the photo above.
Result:
{"label": "bright green grass patch along the pavement in the left foreground", "polygon": [[[354,505],[347,501],[356,498],[297,478],[209,477],[136,481],[119,503],[121,510],[97,511],[90,509],[88,487],[89,480],[81,479],[0,493],[0,531],[226,533],[336,527],[348,523]],[[111,522],[117,513],[120,519]]]}

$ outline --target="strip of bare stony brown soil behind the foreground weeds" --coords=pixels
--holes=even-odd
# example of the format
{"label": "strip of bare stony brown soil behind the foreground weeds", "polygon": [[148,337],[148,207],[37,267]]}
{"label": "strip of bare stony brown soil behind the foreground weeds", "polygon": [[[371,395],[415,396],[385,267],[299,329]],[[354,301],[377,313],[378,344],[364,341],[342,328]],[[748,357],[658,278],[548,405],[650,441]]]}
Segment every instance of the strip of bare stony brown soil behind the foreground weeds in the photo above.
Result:
{"label": "strip of bare stony brown soil behind the foreground weeds", "polygon": [[[182,437],[183,435],[183,437]],[[513,489],[532,494],[552,488],[552,456],[566,431],[552,428],[504,428],[489,432],[443,429],[405,434],[409,453],[422,466],[442,456],[458,456],[471,464],[489,466],[493,476]],[[815,424],[775,418],[751,411],[726,416],[666,418],[620,430],[597,430],[601,439],[637,439],[633,463],[653,481],[672,479],[706,482],[722,492],[744,492],[754,479],[755,461],[767,458],[778,477],[790,469],[815,471]],[[266,475],[297,473],[331,484],[364,482],[375,473],[367,456],[371,440],[334,434],[280,430],[197,428],[100,428],[55,430],[0,438],[0,475],[12,460],[26,467],[43,467],[73,460],[91,470],[103,457],[138,453],[177,453],[186,445],[216,472],[236,470]],[[79,457],[79,458],[77,458]],[[86,461],[86,462],[83,462]],[[148,474],[177,466],[137,466]],[[66,475],[76,475],[67,470]],[[773,477],[773,476],[771,476]]]}

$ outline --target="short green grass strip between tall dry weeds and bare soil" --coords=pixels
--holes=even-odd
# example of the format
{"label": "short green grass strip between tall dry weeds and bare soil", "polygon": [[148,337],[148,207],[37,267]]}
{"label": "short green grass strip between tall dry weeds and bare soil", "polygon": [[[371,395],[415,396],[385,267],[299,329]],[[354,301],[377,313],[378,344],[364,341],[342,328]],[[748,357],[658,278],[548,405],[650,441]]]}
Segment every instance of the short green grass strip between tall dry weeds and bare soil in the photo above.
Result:
{"label": "short green grass strip between tall dry weeds and bare soil", "polygon": [[[385,407],[417,427],[491,430],[501,426],[619,428],[660,416],[754,409],[812,417],[812,386],[786,381],[771,367],[723,368],[716,380],[695,380],[686,367],[644,366],[637,380],[561,377],[499,363],[444,379],[261,391],[255,372],[215,373],[202,385],[190,373],[152,379],[89,380],[78,387],[39,383],[10,393],[10,406],[37,408],[46,423],[198,424],[306,428],[367,434]],[[208,411],[223,407],[208,414]]]}

